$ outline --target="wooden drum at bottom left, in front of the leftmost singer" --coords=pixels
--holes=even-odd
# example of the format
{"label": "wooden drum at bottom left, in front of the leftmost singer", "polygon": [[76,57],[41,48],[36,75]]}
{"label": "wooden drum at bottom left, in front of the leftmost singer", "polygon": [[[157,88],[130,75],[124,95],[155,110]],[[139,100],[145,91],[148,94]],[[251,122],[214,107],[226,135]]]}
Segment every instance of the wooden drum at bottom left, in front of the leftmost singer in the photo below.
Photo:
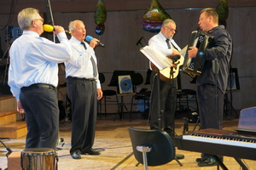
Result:
{"label": "wooden drum at bottom left, in front of the leftmost singer", "polygon": [[23,170],[56,170],[57,156],[50,148],[30,148],[21,152]]}

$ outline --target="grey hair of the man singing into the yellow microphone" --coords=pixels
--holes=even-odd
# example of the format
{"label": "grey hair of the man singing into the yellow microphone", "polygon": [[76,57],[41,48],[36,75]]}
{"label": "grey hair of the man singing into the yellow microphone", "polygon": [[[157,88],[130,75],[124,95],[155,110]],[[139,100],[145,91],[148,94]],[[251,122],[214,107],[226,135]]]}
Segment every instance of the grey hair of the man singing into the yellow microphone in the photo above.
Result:
{"label": "grey hair of the man singing into the yellow microphone", "polygon": [[32,20],[35,20],[39,14],[36,8],[24,8],[18,14],[18,23],[21,30],[27,30],[32,24]]}

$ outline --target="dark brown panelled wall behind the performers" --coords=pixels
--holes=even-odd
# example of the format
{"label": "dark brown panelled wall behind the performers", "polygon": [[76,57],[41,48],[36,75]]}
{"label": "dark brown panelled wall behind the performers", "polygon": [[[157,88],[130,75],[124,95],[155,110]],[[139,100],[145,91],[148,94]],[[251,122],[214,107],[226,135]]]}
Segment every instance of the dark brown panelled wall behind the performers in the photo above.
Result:
{"label": "dark brown panelled wall behind the performers", "polygon": [[[35,7],[45,12],[44,3],[40,0],[16,0],[14,10],[10,10],[10,2],[0,3],[0,26],[17,26],[16,15],[22,8]],[[143,31],[141,20],[149,6],[150,1],[124,1],[106,0],[108,18],[105,22],[105,32],[99,37],[95,33],[94,9],[96,0],[55,0],[52,2],[52,9],[55,18],[55,25],[64,26],[67,29],[71,20],[83,20],[88,35],[99,38],[105,43],[105,48],[96,48],[96,55],[99,70],[112,72],[114,70],[135,70],[147,71],[148,59],[139,52],[142,46],[136,45],[143,37],[143,45],[148,39],[154,36],[153,33]],[[212,1],[163,1],[159,0],[166,12],[177,22],[177,43],[183,48],[189,41],[191,31],[197,28],[198,15],[201,8],[218,5],[218,0]],[[195,3],[196,2],[196,3]],[[233,38],[233,56],[231,65],[238,69],[241,89],[233,92],[233,105],[235,109],[242,109],[256,105],[256,71],[253,67],[256,64],[254,55],[254,39],[256,37],[256,1],[254,0],[230,0],[230,15],[227,20],[227,30]],[[72,8],[71,8],[72,7]],[[43,14],[42,14],[43,15]],[[10,19],[10,20],[9,20]],[[6,50],[5,30],[0,31],[3,51]],[[190,84],[191,78],[181,73],[183,88],[195,88]],[[107,87],[111,74],[107,74]]]}

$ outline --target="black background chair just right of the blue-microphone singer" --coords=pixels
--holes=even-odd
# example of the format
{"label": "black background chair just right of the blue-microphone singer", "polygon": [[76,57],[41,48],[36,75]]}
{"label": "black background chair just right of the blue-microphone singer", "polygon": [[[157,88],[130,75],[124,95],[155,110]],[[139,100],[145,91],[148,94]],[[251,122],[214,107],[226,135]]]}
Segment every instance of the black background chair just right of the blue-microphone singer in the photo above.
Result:
{"label": "black background chair just right of the blue-microphone singer", "polygon": [[[101,82],[101,84],[103,82],[105,82],[105,76],[103,73],[99,73],[99,80]],[[102,99],[104,100],[104,111],[105,111],[105,117],[107,116],[107,103],[108,102],[116,102],[116,104],[119,107],[119,99],[117,96],[117,92],[115,90],[111,90],[111,89],[106,89],[106,90],[102,90],[103,96]],[[110,100],[111,96],[115,96],[115,100]],[[100,105],[100,114],[102,116],[102,99],[99,101],[99,105]]]}

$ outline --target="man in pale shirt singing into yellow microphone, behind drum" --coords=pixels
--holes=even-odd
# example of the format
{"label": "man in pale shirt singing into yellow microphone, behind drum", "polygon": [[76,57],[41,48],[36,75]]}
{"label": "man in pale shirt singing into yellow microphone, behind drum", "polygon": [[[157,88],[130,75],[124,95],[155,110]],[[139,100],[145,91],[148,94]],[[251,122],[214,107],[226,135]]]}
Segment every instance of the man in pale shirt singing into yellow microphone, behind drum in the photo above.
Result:
{"label": "man in pale shirt singing into yellow microphone, behind drum", "polygon": [[61,26],[54,26],[61,43],[39,37],[44,19],[38,9],[21,10],[18,23],[23,33],[9,50],[8,83],[17,110],[25,112],[26,148],[54,149],[59,133],[58,63],[70,59],[71,46]]}

